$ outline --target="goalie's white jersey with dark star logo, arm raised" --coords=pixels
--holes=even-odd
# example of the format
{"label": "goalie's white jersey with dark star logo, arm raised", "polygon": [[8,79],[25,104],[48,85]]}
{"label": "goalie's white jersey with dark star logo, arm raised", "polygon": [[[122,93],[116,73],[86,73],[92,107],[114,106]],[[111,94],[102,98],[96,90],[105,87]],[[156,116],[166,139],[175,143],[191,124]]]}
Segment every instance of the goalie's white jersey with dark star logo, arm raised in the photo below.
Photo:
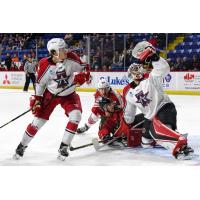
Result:
{"label": "goalie's white jersey with dark star logo, arm raised", "polygon": [[162,87],[163,77],[170,71],[168,63],[160,57],[152,65],[149,78],[136,87],[130,87],[125,93],[124,119],[128,124],[134,121],[136,108],[141,110],[145,118],[151,120],[163,105],[171,102]]}

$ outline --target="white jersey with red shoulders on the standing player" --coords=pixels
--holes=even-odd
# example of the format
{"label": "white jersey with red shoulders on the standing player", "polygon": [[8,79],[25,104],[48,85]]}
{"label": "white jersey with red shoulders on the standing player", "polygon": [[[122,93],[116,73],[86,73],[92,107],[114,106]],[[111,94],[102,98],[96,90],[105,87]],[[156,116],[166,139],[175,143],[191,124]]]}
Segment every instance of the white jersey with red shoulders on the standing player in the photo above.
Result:
{"label": "white jersey with red shoulders on the standing player", "polygon": [[52,94],[57,94],[63,88],[68,89],[61,92],[58,96],[67,96],[75,91],[73,85],[74,73],[85,69],[86,64],[74,53],[68,53],[67,59],[62,63],[53,63],[51,58],[43,58],[39,62],[36,81],[36,95],[42,96],[45,89]]}

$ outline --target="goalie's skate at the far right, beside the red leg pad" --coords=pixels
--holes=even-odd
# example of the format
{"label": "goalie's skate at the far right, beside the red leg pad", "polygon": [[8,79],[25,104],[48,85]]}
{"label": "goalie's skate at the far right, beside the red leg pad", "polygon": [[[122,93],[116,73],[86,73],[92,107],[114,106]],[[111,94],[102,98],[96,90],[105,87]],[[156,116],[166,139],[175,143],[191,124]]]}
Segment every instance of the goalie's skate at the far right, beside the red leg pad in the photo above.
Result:
{"label": "goalie's skate at the far right, beside the red leg pad", "polygon": [[197,155],[194,154],[194,150],[187,145],[183,145],[175,154],[175,158],[177,160],[191,160],[196,156]]}

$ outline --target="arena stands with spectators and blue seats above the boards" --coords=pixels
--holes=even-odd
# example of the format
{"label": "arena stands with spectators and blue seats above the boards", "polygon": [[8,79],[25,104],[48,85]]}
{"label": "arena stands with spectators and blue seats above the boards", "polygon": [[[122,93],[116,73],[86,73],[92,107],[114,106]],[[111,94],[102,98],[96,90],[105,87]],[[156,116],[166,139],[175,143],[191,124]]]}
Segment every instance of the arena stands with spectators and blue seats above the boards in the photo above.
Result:
{"label": "arena stands with spectators and blue seats above the boards", "polygon": [[200,71],[200,33],[0,33],[0,71],[23,71],[27,57],[49,56],[51,38],[64,38],[92,71],[126,71],[131,51],[146,40],[167,59],[171,71]]}

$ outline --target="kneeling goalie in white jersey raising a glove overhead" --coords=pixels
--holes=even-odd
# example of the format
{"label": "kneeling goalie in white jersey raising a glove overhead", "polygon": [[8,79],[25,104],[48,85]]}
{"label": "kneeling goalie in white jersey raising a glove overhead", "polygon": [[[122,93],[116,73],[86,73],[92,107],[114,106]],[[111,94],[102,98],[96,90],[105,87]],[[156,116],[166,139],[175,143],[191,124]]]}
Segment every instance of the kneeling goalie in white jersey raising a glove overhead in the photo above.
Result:
{"label": "kneeling goalie in white jersey raising a glove overhead", "polygon": [[[152,146],[156,142],[169,149],[176,159],[191,159],[194,151],[188,146],[187,138],[176,131],[176,108],[162,87],[163,78],[170,71],[168,63],[146,41],[139,42],[132,55],[139,62],[133,63],[128,69],[133,82],[123,91],[124,113],[115,135],[126,133],[134,121],[136,108],[139,108],[145,116],[143,147]],[[146,62],[151,62],[153,69],[145,79],[142,63]]]}

